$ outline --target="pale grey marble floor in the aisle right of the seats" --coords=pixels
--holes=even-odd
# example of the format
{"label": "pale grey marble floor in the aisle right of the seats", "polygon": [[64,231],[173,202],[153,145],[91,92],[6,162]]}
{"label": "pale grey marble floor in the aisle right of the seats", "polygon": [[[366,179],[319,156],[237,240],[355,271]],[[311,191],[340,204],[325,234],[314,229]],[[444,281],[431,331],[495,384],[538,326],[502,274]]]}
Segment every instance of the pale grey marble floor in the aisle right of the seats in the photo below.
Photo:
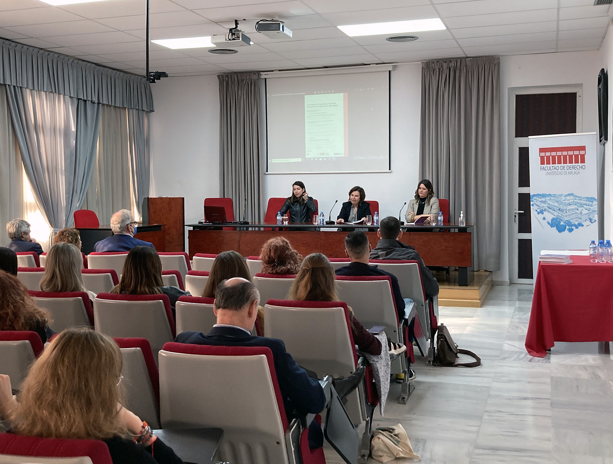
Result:
{"label": "pale grey marble floor in the aisle right of the seats", "polygon": [[[556,343],[546,357],[531,357],[531,299],[531,286],[495,286],[482,308],[441,307],[439,322],[481,367],[428,367],[417,357],[408,404],[398,404],[400,386],[392,385],[373,428],[402,424],[422,463],[613,464],[609,344]],[[343,462],[326,445],[326,461]],[[405,462],[417,461],[394,461]]]}

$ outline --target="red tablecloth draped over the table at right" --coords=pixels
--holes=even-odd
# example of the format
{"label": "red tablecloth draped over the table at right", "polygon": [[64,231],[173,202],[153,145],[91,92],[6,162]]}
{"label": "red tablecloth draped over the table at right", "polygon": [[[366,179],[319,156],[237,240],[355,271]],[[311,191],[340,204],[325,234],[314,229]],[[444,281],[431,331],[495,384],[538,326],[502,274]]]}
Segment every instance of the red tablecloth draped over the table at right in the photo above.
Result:
{"label": "red tablecloth draped over the table at right", "polygon": [[555,341],[613,341],[613,264],[571,259],[539,264],[525,343],[532,356]]}

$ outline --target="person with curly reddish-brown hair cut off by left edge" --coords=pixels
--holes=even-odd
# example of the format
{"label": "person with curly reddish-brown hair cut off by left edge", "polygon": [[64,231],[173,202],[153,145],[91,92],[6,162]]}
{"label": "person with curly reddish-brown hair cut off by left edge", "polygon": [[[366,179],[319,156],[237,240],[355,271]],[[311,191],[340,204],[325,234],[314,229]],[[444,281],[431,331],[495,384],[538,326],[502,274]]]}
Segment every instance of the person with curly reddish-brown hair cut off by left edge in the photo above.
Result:
{"label": "person with curly reddish-brown hair cut off by left edge", "polygon": [[53,330],[49,329],[51,314],[39,308],[21,281],[0,271],[0,330],[31,330],[45,343]]}

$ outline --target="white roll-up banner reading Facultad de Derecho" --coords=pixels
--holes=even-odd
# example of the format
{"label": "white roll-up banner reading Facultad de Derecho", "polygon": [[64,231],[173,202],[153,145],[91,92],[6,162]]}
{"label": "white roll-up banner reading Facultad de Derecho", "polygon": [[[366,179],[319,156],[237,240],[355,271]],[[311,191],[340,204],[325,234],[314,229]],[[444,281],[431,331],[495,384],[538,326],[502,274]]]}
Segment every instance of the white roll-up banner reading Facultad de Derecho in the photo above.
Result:
{"label": "white roll-up banner reading Facultad de Derecho", "polygon": [[532,262],[543,249],[587,249],[598,243],[596,132],[535,135],[530,148]]}

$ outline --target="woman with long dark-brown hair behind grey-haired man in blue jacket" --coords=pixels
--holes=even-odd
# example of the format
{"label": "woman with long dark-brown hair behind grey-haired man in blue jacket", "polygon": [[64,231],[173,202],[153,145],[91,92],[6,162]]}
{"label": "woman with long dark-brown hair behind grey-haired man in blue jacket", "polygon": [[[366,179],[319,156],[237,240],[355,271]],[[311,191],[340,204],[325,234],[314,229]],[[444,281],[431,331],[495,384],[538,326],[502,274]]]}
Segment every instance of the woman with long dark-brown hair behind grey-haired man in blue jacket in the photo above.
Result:
{"label": "woman with long dark-brown hair behind grey-haired man in blue jacket", "polygon": [[162,261],[158,252],[150,246],[135,246],[126,256],[123,264],[120,283],[111,293],[123,295],[168,295],[172,306],[172,317],[175,317],[175,305],[180,297],[191,296],[191,293],[179,287],[164,285],[162,281]]}

